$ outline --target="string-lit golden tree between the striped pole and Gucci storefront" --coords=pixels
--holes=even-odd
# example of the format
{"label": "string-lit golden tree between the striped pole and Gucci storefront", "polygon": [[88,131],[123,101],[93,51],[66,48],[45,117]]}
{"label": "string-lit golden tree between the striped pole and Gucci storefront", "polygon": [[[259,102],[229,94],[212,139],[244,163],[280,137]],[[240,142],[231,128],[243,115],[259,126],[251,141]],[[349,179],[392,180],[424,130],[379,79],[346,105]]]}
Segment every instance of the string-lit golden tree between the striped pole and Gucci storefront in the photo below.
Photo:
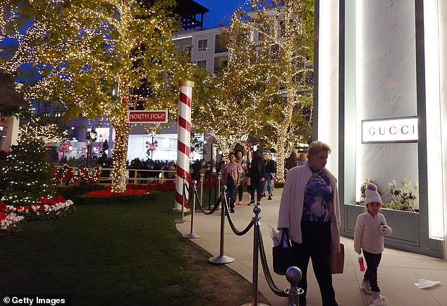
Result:
{"label": "string-lit golden tree between the striped pole and Gucci storefront", "polygon": [[249,134],[276,149],[278,169],[283,169],[290,144],[310,137],[311,2],[251,0],[233,14],[228,67],[210,77],[209,107],[198,109],[202,121],[223,127],[208,127],[223,151],[233,148],[231,135]]}

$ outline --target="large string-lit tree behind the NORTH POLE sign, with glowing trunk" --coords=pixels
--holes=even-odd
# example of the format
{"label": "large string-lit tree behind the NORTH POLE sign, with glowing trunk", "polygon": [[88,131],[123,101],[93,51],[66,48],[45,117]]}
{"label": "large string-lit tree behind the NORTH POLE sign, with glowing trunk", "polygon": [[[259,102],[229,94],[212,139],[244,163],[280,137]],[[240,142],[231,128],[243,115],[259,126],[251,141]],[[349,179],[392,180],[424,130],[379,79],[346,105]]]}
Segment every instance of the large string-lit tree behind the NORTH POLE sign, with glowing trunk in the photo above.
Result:
{"label": "large string-lit tree behind the NORTH POLE sign, with glowing trunk", "polygon": [[[33,65],[39,79],[25,84],[26,98],[66,106],[67,117],[108,117],[116,136],[112,191],[124,191],[130,89],[148,82],[163,102],[149,101],[146,108],[168,109],[174,118],[176,106],[169,101],[176,100],[175,84],[192,77],[192,64],[171,40],[180,28],[171,14],[176,1],[25,2],[0,0],[0,39],[18,42],[0,56],[0,67],[12,75]],[[17,27],[22,20],[32,24],[25,33]]]}

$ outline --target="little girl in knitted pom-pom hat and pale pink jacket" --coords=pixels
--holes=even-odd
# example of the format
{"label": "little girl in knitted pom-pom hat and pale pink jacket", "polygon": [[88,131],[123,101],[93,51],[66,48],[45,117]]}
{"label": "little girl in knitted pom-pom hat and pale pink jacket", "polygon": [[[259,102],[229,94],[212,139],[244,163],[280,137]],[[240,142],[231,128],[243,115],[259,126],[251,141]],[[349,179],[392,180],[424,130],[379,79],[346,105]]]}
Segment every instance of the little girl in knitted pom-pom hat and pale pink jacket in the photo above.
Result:
{"label": "little girl in knitted pom-pom hat and pale pink jacket", "polygon": [[354,234],[354,250],[363,255],[367,262],[367,270],[363,277],[362,286],[366,293],[372,294],[374,305],[386,305],[388,299],[380,294],[377,285],[377,267],[384,251],[384,235],[391,234],[391,227],[386,224],[384,215],[379,213],[382,200],[376,185],[369,183],[365,191],[365,205],[367,212],[357,217]]}

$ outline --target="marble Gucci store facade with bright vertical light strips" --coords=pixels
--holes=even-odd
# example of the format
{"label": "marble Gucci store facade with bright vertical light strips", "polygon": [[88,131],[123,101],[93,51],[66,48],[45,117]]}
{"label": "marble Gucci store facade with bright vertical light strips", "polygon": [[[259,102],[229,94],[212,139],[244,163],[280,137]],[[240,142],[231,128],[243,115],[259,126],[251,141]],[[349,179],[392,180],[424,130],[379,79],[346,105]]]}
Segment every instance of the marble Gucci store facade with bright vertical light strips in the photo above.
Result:
{"label": "marble Gucci store facade with bright vertical light strips", "polygon": [[445,258],[447,1],[316,0],[315,10],[314,139],[333,149],[343,235],[365,179],[386,202],[405,179],[417,212],[385,213],[386,245]]}

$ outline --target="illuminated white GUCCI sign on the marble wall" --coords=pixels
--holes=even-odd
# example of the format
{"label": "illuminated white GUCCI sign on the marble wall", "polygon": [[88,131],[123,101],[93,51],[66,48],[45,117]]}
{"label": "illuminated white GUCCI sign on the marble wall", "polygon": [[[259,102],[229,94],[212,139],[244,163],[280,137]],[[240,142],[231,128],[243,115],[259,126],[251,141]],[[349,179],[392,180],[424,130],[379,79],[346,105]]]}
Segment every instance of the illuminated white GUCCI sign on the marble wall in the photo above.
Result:
{"label": "illuminated white GUCCI sign on the marble wall", "polygon": [[362,121],[362,143],[417,142],[417,117]]}

